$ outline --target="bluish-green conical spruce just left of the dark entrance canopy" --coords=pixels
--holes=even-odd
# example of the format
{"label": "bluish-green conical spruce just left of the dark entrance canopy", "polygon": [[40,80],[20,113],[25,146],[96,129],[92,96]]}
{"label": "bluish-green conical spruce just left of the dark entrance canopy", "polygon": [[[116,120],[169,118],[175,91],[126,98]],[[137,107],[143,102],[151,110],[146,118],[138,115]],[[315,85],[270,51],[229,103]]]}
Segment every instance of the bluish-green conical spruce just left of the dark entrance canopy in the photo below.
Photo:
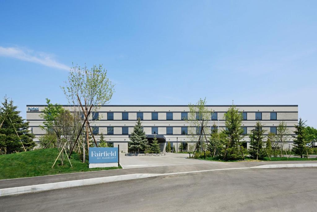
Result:
{"label": "bluish-green conical spruce just left of the dark entrance canopy", "polygon": [[130,136],[129,148],[134,151],[140,152],[140,150],[145,150],[148,146],[148,140],[143,127],[141,125],[140,118],[137,121],[137,124],[133,128],[133,132]]}

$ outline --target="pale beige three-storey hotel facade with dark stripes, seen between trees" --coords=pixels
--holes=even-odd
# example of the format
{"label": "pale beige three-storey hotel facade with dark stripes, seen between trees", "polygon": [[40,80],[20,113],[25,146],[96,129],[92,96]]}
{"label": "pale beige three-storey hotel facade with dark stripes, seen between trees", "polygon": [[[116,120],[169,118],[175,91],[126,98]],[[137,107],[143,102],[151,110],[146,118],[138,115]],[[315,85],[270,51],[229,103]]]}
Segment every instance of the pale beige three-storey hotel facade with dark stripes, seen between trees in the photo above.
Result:
{"label": "pale beige three-storey hotel facade with dark stripes, seen between trees", "polygon": [[[74,111],[73,106],[64,105],[65,109]],[[224,113],[230,105],[207,105],[209,110],[214,111],[211,120],[205,120],[207,126],[216,125],[218,130],[225,129]],[[45,105],[27,105],[27,121],[36,135],[35,141],[45,134],[39,126],[43,124],[40,117]],[[244,133],[249,134],[254,129],[256,121],[262,122],[262,129],[276,133],[276,127],[284,121],[288,128],[288,142],[286,148],[292,148],[294,125],[298,122],[298,105],[237,105],[236,108],[243,113],[242,126]],[[120,151],[128,151],[129,135],[133,131],[137,118],[141,119],[143,129],[149,139],[155,135],[160,142],[162,151],[168,141],[176,148],[180,142],[189,142],[187,133],[191,127],[184,118],[190,113],[187,105],[105,105],[90,115],[91,126],[97,140],[103,133],[107,142],[113,143],[114,147],[120,145]],[[210,128],[208,127],[210,133]],[[207,132],[205,132],[207,133]],[[266,140],[266,139],[265,139]],[[249,137],[245,136],[244,146],[249,146]]]}

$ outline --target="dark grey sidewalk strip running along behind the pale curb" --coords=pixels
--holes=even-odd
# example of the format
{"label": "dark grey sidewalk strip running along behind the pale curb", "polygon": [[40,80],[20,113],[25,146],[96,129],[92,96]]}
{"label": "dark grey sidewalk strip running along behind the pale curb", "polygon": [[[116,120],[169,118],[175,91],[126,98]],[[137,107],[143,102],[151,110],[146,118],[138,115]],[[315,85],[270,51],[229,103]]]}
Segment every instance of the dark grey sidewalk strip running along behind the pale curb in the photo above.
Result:
{"label": "dark grey sidewalk strip running along behind the pale curb", "polygon": [[[195,160],[195,159],[186,159]],[[200,161],[200,160],[195,160]],[[317,161],[262,161],[262,162],[216,162],[216,163],[201,163],[192,165],[172,165],[172,166],[157,166],[147,168],[129,168],[129,169],[114,169],[104,171],[93,171],[93,172],[81,172],[71,174],[57,174],[47,175],[39,177],[28,177],[28,178],[17,178],[0,180],[0,189],[2,188],[13,188],[22,187],[38,184],[47,184],[54,182],[74,181],[83,179],[92,179],[108,176],[120,176],[126,174],[167,174],[176,172],[191,172],[191,171],[202,171],[211,169],[224,169],[224,168],[247,168],[260,165],[268,164],[296,164],[296,163],[316,163]]]}

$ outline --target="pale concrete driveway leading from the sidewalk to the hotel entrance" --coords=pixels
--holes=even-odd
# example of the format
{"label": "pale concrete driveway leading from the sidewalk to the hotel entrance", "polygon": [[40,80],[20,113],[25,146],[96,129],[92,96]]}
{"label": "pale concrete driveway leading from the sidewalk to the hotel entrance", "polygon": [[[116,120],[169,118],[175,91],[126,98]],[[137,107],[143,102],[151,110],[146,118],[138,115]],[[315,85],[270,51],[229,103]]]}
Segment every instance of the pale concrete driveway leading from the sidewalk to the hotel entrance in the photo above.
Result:
{"label": "pale concrete driveway leading from the sidewalk to the hotel entrance", "polygon": [[177,166],[189,164],[222,163],[217,161],[202,161],[186,159],[189,154],[166,153],[165,156],[125,156],[120,153],[120,164],[123,168],[140,168],[155,166]]}

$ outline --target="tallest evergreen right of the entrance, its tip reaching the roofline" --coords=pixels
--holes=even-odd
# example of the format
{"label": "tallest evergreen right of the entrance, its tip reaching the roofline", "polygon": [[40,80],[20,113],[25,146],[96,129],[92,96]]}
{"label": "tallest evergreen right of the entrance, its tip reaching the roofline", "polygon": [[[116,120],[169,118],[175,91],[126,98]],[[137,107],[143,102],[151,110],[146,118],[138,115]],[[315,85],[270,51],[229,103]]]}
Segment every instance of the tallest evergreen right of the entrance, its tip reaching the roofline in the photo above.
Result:
{"label": "tallest evergreen right of the entrance, its tip reaching the roofline", "polygon": [[243,139],[242,113],[238,111],[235,105],[230,106],[227,113],[224,115],[226,121],[226,144],[223,150],[223,160],[243,159],[244,153],[241,140]]}

